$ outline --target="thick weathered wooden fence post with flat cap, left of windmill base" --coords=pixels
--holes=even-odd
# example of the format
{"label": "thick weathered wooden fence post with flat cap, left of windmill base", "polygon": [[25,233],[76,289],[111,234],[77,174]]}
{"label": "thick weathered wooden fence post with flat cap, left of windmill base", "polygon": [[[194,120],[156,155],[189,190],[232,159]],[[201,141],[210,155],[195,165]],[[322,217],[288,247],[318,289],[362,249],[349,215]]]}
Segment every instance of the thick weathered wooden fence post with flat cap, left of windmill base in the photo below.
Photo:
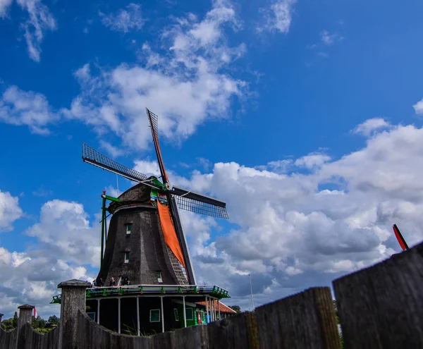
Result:
{"label": "thick weathered wooden fence post with flat cap, left of windmill base", "polygon": [[69,280],[59,283],[62,289],[59,326],[59,349],[77,348],[78,311],[85,312],[85,292],[88,281]]}

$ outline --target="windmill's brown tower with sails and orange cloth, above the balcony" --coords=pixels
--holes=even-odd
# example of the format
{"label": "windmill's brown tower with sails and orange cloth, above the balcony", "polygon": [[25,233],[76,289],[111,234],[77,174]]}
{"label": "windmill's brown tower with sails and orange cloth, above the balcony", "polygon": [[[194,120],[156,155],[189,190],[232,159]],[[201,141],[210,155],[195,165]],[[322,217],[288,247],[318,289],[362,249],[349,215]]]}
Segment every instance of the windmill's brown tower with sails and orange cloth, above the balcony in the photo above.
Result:
{"label": "windmill's brown tower with sails and orange cloth, above the balcony", "polygon": [[[124,277],[125,280],[130,278],[132,284],[140,285],[195,285],[195,274],[178,207],[197,214],[228,219],[226,203],[169,183],[159,147],[158,117],[149,109],[146,111],[161,180],[118,164],[82,143],[83,161],[138,183],[118,198],[109,197],[105,192],[102,195],[104,210],[98,277],[106,282],[111,276]],[[107,209],[106,200],[111,200]],[[105,223],[107,212],[113,214],[108,234]]]}

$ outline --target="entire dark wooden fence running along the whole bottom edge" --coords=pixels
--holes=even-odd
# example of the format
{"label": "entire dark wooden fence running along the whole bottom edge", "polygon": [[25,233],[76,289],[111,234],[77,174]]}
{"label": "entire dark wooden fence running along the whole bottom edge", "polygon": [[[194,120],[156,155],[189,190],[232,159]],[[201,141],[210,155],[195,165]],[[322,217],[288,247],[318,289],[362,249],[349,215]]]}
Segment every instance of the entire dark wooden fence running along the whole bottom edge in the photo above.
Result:
{"label": "entire dark wooden fence running along the whole bottom edge", "polygon": [[[423,244],[333,281],[344,348],[423,348],[422,285]],[[78,288],[80,296],[73,293],[72,298],[75,300],[72,304],[79,302],[80,306],[63,308],[66,292],[62,290],[60,338],[68,339],[62,341],[61,349],[342,348],[331,289],[327,287],[309,288],[257,307],[255,312],[149,337],[119,335],[93,322],[83,312],[85,288],[81,285]],[[69,310],[63,312],[63,309]],[[66,318],[73,321],[66,322]],[[28,331],[20,330],[18,343],[23,343],[23,337],[35,343],[34,338],[39,337]],[[51,346],[25,344],[18,348],[55,349],[54,344],[49,343],[57,338],[56,332],[44,339],[45,345]],[[0,349],[15,348],[13,341],[16,341],[13,331],[6,336],[0,331]]]}

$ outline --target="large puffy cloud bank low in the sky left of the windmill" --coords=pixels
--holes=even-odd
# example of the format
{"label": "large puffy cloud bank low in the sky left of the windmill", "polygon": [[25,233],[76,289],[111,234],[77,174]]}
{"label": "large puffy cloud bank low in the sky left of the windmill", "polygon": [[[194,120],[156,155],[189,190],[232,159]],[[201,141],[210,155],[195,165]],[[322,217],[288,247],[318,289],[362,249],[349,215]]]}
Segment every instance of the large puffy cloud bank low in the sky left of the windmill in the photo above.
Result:
{"label": "large puffy cloud bank low in the sky left of the windmill", "polygon": [[[0,227],[10,221],[1,212],[0,208]],[[10,317],[18,305],[29,303],[47,318],[60,312],[60,307],[49,302],[60,293],[57,285],[61,281],[92,280],[87,266],[99,266],[98,229],[90,226],[81,204],[51,200],[42,206],[39,222],[26,233],[37,243],[25,252],[0,247],[0,308]]]}

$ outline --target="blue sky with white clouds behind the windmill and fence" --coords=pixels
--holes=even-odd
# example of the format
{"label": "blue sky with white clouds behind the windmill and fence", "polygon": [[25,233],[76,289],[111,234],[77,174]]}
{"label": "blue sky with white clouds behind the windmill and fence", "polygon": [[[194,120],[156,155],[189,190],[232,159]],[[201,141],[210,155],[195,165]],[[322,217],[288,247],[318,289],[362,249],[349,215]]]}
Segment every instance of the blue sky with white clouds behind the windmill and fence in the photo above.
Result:
{"label": "blue sky with white clouds behind the windmill and fence", "polygon": [[145,107],[172,183],[228,202],[228,222],[184,214],[185,233],[200,280],[245,309],[248,273],[262,304],[389,257],[393,223],[418,243],[422,11],[0,0],[0,312],[57,313],[57,283],[95,276],[116,177],[81,143],[157,173]]}

